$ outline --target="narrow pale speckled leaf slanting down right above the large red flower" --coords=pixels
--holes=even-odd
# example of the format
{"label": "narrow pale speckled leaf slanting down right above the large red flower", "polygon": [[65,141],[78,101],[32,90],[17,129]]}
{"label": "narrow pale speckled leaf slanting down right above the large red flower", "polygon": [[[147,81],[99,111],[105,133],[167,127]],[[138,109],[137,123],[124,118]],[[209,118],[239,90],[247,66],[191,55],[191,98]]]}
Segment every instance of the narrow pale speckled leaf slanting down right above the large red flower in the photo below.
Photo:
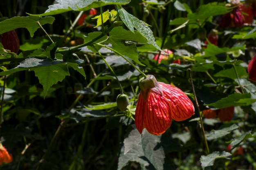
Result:
{"label": "narrow pale speckled leaf slanting down right above the large red flower", "polygon": [[[124,22],[124,24],[128,27],[128,29],[132,32],[134,32],[134,28],[143,35],[150,44],[155,46],[158,50],[162,51],[160,47],[155,42],[155,37],[153,35],[153,32],[149,28],[149,26],[144,22],[136,18],[135,16],[128,13],[124,8],[121,8],[118,6],[118,13],[120,15],[121,20]],[[162,51],[165,53],[164,51]]]}

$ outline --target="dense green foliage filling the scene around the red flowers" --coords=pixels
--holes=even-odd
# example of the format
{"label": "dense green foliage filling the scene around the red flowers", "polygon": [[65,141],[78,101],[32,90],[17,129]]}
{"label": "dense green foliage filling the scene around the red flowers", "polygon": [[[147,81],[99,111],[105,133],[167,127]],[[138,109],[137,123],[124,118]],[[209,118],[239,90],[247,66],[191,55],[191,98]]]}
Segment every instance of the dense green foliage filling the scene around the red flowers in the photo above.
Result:
{"label": "dense green foliage filling the scene around the red flowers", "polygon": [[[13,155],[1,170],[256,169],[256,86],[247,73],[254,24],[218,27],[232,10],[222,0],[57,2],[0,1],[10,18],[0,22],[0,34],[16,29],[21,45],[16,56],[0,44],[0,140]],[[80,11],[88,15],[81,25]],[[207,42],[211,29],[217,46]],[[158,63],[161,49],[173,54]],[[124,112],[102,56],[129,96]],[[141,136],[133,119],[138,68],[182,89],[196,106],[190,68],[200,110],[163,135]],[[202,132],[202,110],[233,106],[231,121],[203,117]]]}

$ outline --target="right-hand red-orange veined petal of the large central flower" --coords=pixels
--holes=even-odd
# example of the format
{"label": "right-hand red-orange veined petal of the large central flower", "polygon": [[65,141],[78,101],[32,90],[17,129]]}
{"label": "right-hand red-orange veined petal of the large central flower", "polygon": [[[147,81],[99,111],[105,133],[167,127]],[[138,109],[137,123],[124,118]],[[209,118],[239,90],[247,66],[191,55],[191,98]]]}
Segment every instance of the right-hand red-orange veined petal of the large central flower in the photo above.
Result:
{"label": "right-hand red-orange veined petal of the large central flower", "polygon": [[170,84],[158,82],[165,97],[171,104],[171,118],[176,121],[183,121],[195,114],[195,108],[189,97],[179,88]]}

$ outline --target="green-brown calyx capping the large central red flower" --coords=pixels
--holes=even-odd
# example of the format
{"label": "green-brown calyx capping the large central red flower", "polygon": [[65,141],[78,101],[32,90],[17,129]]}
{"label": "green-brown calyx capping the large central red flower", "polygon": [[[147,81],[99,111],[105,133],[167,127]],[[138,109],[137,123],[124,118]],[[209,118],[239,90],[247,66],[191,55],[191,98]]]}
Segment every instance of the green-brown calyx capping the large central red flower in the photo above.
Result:
{"label": "green-brown calyx capping the large central red flower", "polygon": [[144,100],[148,98],[148,93],[150,90],[158,93],[159,95],[163,95],[163,91],[161,86],[158,84],[157,79],[154,75],[147,75],[147,77],[142,77],[139,79],[139,87],[141,89],[141,95]]}

